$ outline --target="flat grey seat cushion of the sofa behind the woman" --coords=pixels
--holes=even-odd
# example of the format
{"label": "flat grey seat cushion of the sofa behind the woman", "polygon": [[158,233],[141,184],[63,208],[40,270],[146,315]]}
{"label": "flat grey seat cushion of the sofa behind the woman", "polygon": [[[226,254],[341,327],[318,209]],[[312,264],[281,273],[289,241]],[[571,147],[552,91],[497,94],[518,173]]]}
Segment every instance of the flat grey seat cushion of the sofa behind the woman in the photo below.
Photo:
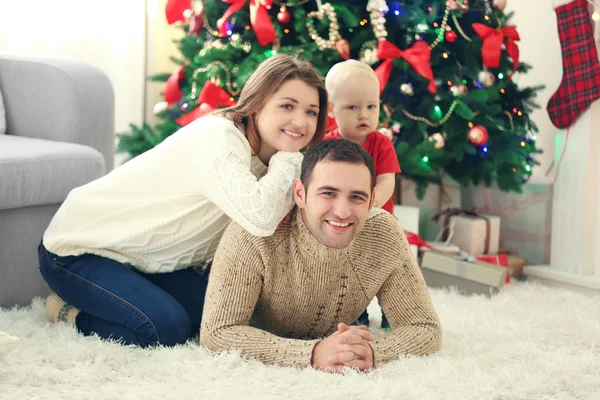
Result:
{"label": "flat grey seat cushion of the sofa behind the woman", "polygon": [[91,147],[22,136],[0,136],[0,210],[62,203],[71,189],[104,175]]}

